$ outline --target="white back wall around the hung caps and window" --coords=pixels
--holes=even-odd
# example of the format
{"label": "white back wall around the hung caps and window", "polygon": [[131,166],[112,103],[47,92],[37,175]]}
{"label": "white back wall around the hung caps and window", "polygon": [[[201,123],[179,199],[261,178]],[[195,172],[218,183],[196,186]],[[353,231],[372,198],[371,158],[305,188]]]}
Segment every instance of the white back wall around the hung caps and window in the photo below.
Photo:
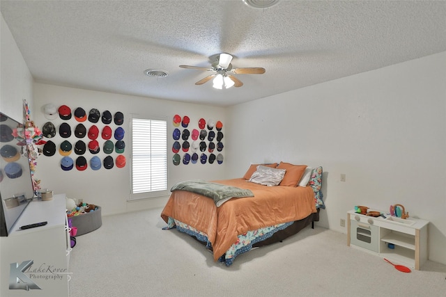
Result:
{"label": "white back wall around the hung caps and window", "polygon": [[[169,162],[169,186],[173,186],[176,182],[180,182],[184,179],[223,179],[225,176],[226,160],[222,164],[188,164],[184,165],[180,163],[178,166],[174,166],[171,161],[174,155],[171,152],[171,146],[174,143],[172,132],[174,131],[174,125],[172,119],[174,115],[178,113],[181,117],[187,115],[190,117],[190,131],[198,128],[198,120],[205,118],[206,120],[212,118],[213,120],[221,120],[224,124],[223,132],[225,132],[226,123],[226,111],[221,107],[204,106],[197,104],[184,104],[174,101],[151,99],[144,97],[135,97],[128,95],[118,95],[112,93],[95,92],[91,90],[82,90],[77,88],[66,88],[61,86],[52,86],[43,83],[34,84],[34,105],[36,106],[36,113],[34,120],[36,124],[42,128],[45,122],[49,121],[45,118],[43,113],[43,106],[45,104],[52,103],[56,106],[66,104],[70,106],[72,112],[77,107],[82,107],[86,113],[90,109],[98,109],[101,113],[106,109],[114,114],[116,111],[121,111],[125,116],[124,124],[121,126],[125,131],[126,147],[124,155],[126,157],[127,166],[125,168],[114,168],[106,170],[101,168],[100,170],[91,170],[88,168],[85,171],[78,171],[76,169],[70,171],[63,171],[60,167],[60,161],[62,156],[59,152],[56,152],[54,156],[40,155],[38,158],[38,166],[36,170],[36,177],[41,180],[41,186],[43,188],[49,188],[56,193],[66,193],[68,198],[82,198],[84,202],[91,204],[98,204],[102,207],[102,214],[118,214],[126,211],[134,211],[139,209],[147,209],[151,207],[161,207],[167,202],[167,197],[154,198],[150,200],[142,200],[137,202],[127,202],[130,197],[130,115],[162,115],[167,117],[168,121],[168,162]],[[59,125],[62,122],[68,122],[74,131],[75,126],[79,123],[72,117],[68,121],[63,121],[60,118],[52,121],[56,125],[56,129],[59,129]],[[93,125],[88,120],[84,122],[87,129]],[[110,125],[112,129],[114,123]],[[98,122],[98,127],[102,129],[102,122]],[[181,128],[183,129],[183,128]],[[59,131],[59,130],[58,130]],[[226,137],[226,135],[225,135]],[[47,138],[44,138],[48,140]],[[70,138],[61,138],[59,133],[52,141],[56,145],[68,139],[72,145],[75,144],[79,138],[76,138],[74,134]],[[86,141],[87,139],[87,141]],[[112,138],[114,140],[114,138]],[[88,144],[89,139],[84,138],[84,142]],[[102,145],[102,143],[100,142]],[[226,150],[226,148],[224,148]],[[223,151],[224,153],[224,151]],[[209,153],[208,153],[209,154]],[[104,159],[107,154],[101,152],[97,154],[100,159]],[[71,156],[71,155],[70,155]],[[86,159],[89,160],[93,154],[90,154],[87,150]],[[113,153],[112,156],[116,158],[117,154]],[[180,156],[183,156],[180,153]],[[77,155],[72,152],[72,159],[76,159]]]}

